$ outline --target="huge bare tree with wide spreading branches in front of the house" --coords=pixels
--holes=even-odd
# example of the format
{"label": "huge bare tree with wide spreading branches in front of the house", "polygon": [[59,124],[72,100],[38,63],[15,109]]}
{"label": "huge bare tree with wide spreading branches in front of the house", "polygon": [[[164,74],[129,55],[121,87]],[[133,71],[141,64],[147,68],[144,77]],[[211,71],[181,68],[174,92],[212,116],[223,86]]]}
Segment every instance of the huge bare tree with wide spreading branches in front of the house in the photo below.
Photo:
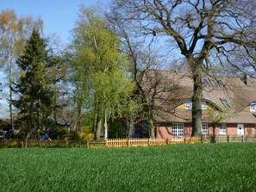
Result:
{"label": "huge bare tree with wide spreading branches in front of the house", "polygon": [[255,1],[113,0],[112,6],[140,34],[168,40],[172,51],[185,60],[194,81],[192,135],[200,135],[203,71],[213,65],[235,65],[231,58],[239,49],[252,53],[247,50],[255,48]]}

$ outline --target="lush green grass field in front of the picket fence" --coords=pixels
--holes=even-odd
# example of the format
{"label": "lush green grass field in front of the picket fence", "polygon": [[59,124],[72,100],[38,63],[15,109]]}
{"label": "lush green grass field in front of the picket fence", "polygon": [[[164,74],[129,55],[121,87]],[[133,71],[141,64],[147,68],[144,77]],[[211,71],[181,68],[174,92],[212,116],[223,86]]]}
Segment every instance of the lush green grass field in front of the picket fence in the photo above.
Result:
{"label": "lush green grass field in front of the picket fence", "polygon": [[1,149],[0,191],[256,191],[256,143]]}

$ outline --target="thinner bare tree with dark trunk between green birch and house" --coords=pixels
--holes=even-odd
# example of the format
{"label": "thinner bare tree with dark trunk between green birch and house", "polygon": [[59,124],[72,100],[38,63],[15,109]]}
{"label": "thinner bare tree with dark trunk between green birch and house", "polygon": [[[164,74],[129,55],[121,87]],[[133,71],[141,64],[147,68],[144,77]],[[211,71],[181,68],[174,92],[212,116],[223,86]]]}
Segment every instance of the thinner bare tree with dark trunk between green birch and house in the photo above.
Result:
{"label": "thinner bare tree with dark trunk between green birch and house", "polygon": [[[148,97],[148,90],[143,89],[140,84],[139,74],[141,69],[157,68],[159,63],[158,47],[151,41],[149,45],[145,43],[145,37],[140,35],[131,21],[122,18],[122,15],[115,9],[112,9],[107,15],[107,19],[112,30],[118,35],[122,41],[122,53],[128,56],[130,61],[130,73],[139,92],[136,97],[137,102],[141,102],[144,113],[140,113],[140,118],[128,114],[128,129],[133,129],[134,121],[147,121],[149,136],[155,137],[155,121],[153,119],[153,103]],[[134,98],[135,99],[135,98]],[[137,106],[138,107],[138,106]],[[133,118],[131,118],[133,117]],[[136,119],[136,120],[135,120]]]}

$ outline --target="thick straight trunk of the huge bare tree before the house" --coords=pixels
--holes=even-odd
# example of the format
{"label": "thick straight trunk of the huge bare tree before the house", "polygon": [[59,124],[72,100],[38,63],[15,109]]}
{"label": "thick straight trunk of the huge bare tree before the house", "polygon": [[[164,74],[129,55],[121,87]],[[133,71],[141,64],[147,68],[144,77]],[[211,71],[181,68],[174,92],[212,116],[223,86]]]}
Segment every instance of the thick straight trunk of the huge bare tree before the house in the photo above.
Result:
{"label": "thick straight trunk of the huge bare tree before the house", "polygon": [[192,71],[194,90],[192,96],[192,136],[202,135],[202,74],[201,65],[197,65],[195,71]]}

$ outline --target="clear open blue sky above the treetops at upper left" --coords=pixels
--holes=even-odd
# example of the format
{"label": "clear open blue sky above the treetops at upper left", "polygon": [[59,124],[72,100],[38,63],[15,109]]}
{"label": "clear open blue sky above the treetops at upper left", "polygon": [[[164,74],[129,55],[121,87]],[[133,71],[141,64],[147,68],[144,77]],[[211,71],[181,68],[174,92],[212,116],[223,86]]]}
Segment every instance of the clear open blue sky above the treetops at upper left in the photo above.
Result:
{"label": "clear open blue sky above the treetops at upper left", "polygon": [[66,44],[69,42],[70,31],[78,19],[81,3],[93,5],[97,0],[0,0],[0,10],[15,9],[18,16],[41,15],[44,21],[44,34],[57,34]]}

